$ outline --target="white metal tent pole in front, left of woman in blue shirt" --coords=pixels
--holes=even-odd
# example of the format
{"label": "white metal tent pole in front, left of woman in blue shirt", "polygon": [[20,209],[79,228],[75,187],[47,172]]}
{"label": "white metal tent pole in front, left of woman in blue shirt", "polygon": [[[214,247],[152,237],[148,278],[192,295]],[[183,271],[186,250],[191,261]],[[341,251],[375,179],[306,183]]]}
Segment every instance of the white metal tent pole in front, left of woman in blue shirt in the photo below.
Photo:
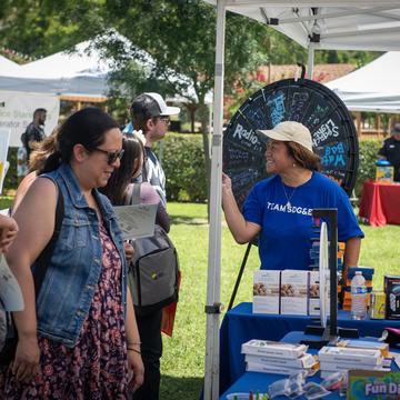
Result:
{"label": "white metal tent pole in front, left of woman in blue shirt", "polygon": [[210,231],[207,278],[204,400],[219,398],[221,280],[222,111],[226,0],[217,1],[217,43],[211,152]]}

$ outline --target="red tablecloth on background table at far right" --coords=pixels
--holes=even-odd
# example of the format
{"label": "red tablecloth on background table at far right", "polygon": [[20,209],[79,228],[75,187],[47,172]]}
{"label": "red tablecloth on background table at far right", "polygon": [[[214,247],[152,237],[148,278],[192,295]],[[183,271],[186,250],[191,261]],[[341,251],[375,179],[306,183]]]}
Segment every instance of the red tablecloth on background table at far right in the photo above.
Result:
{"label": "red tablecloth on background table at far right", "polygon": [[400,224],[400,184],[366,180],[359,216],[367,218],[372,227]]}

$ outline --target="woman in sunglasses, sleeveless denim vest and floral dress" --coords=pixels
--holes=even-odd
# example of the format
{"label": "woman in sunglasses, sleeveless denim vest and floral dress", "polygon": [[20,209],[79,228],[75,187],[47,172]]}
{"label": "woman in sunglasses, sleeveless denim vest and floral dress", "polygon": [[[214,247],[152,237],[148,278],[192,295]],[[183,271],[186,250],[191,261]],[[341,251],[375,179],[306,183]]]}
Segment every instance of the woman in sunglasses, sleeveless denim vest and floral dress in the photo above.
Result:
{"label": "woman in sunglasses, sleeveless denim vest and floral dress", "polygon": [[[110,116],[88,108],[63,122],[58,147],[14,214],[20,232],[8,262],[26,307],[13,313],[19,341],[11,368],[0,372],[0,393],[126,399],[128,387],[134,391],[143,381],[140,338],[123,234],[97,190],[120,166],[122,134]],[[31,264],[53,233],[59,191],[62,227],[34,300]]]}

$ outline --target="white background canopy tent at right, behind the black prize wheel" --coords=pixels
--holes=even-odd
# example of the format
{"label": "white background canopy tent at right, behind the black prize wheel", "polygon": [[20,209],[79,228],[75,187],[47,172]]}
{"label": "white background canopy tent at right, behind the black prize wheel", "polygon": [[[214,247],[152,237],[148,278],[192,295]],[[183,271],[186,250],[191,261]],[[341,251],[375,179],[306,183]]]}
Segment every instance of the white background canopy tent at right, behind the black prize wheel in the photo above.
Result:
{"label": "white background canopy tent at right, behind the black prize wheel", "polygon": [[388,51],[367,66],[326,86],[351,111],[400,113],[400,51]]}

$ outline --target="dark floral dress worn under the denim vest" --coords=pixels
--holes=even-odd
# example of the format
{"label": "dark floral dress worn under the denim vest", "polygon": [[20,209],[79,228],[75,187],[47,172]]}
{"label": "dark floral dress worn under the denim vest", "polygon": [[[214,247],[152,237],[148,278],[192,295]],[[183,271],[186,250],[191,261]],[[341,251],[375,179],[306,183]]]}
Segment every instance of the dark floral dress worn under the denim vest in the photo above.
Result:
{"label": "dark floral dress worn under the denim vest", "polygon": [[0,372],[0,399],[126,399],[128,361],[121,293],[121,260],[100,224],[102,267],[89,313],[73,348],[38,337],[39,371],[22,383]]}

